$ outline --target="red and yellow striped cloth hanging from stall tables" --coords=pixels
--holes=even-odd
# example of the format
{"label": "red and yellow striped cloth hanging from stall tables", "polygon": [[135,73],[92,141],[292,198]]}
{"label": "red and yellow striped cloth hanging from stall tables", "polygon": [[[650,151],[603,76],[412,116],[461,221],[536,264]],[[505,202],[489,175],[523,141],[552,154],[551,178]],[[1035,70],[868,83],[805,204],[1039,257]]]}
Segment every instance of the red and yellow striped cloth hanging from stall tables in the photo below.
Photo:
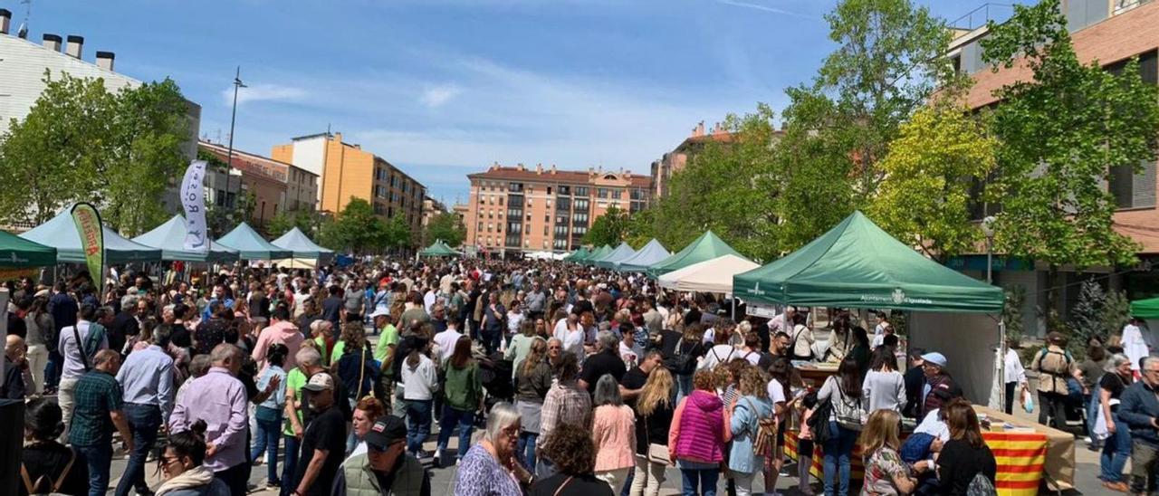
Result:
{"label": "red and yellow striped cloth hanging from stall tables", "polygon": [[[1047,436],[1038,432],[982,432],[990,451],[994,453],[998,464],[996,489],[1001,496],[1030,496],[1038,494],[1042,482],[1042,467],[1047,461]],[[797,437],[795,431],[785,433],[785,455],[796,460]],[[852,474],[850,483],[861,484],[865,466],[861,465],[861,448],[853,448],[851,457]],[[823,477],[821,446],[814,446],[812,467],[810,473],[817,479]]]}

